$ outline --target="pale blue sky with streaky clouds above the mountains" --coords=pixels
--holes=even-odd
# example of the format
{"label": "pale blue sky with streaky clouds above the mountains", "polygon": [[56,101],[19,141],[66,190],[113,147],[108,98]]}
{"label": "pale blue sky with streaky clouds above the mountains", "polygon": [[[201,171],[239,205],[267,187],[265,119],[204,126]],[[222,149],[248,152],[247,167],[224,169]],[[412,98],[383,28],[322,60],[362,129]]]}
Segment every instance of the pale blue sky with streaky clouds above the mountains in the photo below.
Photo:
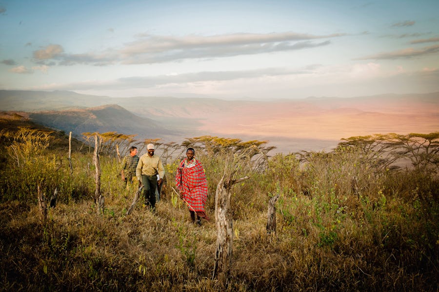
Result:
{"label": "pale blue sky with streaky clouds above the mountains", "polygon": [[0,90],[111,97],[439,91],[439,0],[0,0]]}

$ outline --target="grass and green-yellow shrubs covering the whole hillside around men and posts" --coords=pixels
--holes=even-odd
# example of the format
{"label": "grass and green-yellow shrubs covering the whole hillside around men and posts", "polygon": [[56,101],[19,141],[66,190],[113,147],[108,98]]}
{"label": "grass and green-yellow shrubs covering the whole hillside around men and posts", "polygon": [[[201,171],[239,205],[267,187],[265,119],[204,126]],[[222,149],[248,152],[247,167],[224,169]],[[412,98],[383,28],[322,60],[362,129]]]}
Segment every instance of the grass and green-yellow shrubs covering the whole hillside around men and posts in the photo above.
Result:
{"label": "grass and green-yellow shrubs covering the whole hillside around men and posts", "polygon": [[[211,220],[201,227],[171,189],[181,156],[165,165],[156,213],[140,198],[127,216],[134,191],[123,187],[114,153],[100,156],[99,215],[92,153],[72,153],[73,175],[54,150],[35,147],[20,165],[10,155],[0,169],[0,290],[437,290],[437,173],[386,170],[359,145],[273,157],[259,141],[203,136],[177,146],[166,153],[194,146],[208,178]],[[211,277],[215,190],[225,170],[249,179],[232,188],[233,254],[221,287]],[[46,197],[59,192],[45,224],[37,184]],[[277,231],[267,235],[268,200],[278,193]]]}

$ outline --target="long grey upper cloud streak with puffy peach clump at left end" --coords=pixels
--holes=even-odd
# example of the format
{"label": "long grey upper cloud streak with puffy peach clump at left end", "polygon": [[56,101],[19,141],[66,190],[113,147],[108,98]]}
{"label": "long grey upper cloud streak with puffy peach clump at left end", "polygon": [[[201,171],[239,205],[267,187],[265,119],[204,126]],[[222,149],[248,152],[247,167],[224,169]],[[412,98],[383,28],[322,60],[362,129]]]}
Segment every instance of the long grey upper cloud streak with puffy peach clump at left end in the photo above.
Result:
{"label": "long grey upper cloud streak with puffy peach clump at left end", "polygon": [[[184,59],[221,58],[238,55],[255,55],[282,51],[302,50],[326,46],[328,38],[345,34],[315,36],[296,33],[230,34],[211,37],[165,37],[138,35],[137,41],[124,45],[120,50],[100,53],[67,54],[59,44],[51,44],[34,51],[39,64],[58,65],[90,64],[106,66],[114,63],[151,64],[181,61]],[[316,41],[318,39],[325,39]]]}

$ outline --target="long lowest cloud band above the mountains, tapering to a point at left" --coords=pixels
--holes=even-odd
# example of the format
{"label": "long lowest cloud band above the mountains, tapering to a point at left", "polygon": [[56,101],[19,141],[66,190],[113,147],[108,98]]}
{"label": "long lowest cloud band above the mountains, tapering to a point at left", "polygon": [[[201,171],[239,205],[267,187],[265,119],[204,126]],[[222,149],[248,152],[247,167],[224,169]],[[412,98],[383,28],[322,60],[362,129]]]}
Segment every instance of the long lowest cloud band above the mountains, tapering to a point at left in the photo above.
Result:
{"label": "long lowest cloud band above the mountains, tapering to a point at left", "polygon": [[[88,94],[109,96],[163,96],[174,92],[179,96],[223,96],[240,98],[242,96],[291,98],[298,96],[316,95],[316,88],[324,87],[325,93],[339,95],[339,88],[348,88],[343,96],[358,94],[357,85],[364,84],[367,88],[379,87],[380,84],[392,83],[392,88],[400,88],[411,84],[419,84],[419,78],[428,78],[426,86],[434,91],[437,86],[439,71],[436,67],[424,68],[422,71],[410,71],[403,68],[387,70],[378,62],[364,62],[350,65],[312,65],[298,69],[263,68],[259,70],[242,71],[206,71],[197,73],[182,73],[157,76],[132,76],[113,80],[90,80],[69,84],[41,84],[31,90],[72,90]],[[357,84],[351,87],[349,84]],[[375,86],[371,86],[374,84]],[[395,87],[393,87],[395,86]],[[105,93],[103,93],[105,92]],[[275,93],[276,92],[276,93]],[[293,92],[293,93],[292,93]],[[306,93],[303,93],[306,92]],[[328,93],[332,92],[332,93]],[[375,91],[374,91],[375,92]],[[189,94],[189,95],[185,95]],[[170,94],[171,96],[173,93]]]}

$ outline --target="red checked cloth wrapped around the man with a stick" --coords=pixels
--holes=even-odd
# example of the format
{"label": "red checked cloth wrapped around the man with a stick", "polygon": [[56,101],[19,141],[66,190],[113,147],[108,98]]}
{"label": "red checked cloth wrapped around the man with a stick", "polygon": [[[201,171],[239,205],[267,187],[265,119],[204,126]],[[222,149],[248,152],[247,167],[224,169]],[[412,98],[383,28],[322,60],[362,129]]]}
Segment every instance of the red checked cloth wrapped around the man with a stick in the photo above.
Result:
{"label": "red checked cloth wrapped around the man with a stick", "polygon": [[175,185],[180,191],[182,199],[191,211],[195,211],[198,216],[209,220],[204,205],[207,201],[207,180],[203,166],[200,161],[195,160],[195,164],[185,163],[187,158],[180,163],[175,176]]}

